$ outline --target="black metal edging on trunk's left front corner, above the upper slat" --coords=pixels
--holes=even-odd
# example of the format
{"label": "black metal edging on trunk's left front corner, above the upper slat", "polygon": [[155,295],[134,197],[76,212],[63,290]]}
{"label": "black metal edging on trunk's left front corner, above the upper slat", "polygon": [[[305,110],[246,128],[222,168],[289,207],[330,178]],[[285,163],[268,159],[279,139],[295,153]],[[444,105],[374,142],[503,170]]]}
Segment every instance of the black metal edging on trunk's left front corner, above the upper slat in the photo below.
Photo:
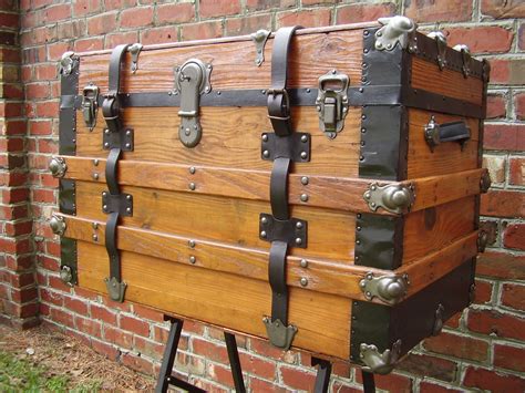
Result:
{"label": "black metal edging on trunk's left front corner, above the upper slat", "polygon": [[76,113],[72,102],[79,92],[79,56],[72,54],[71,62],[71,71],[61,72],[60,76],[59,152],[68,156],[76,154]]}

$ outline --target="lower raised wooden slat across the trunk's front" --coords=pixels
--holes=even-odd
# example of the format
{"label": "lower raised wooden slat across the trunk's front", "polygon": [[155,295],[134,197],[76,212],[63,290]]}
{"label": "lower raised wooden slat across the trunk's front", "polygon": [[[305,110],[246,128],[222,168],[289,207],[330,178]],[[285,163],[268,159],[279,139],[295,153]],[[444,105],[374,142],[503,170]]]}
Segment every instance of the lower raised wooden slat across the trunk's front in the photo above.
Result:
{"label": "lower raised wooden slat across the trunk's front", "polygon": [[[65,237],[101,246],[105,245],[105,223],[66,215],[61,216],[64,217],[66,223]],[[96,229],[93,228],[93,223],[96,223]],[[97,240],[93,239],[93,235],[96,235]],[[189,240],[195,241],[194,248],[189,247]],[[119,227],[117,230],[117,245],[120,249],[125,251],[187,266],[192,266],[189,257],[194,256],[196,257],[194,267],[268,281],[269,255],[267,250],[123,226]],[[287,257],[287,283],[289,286],[302,288],[300,279],[306,278],[308,285],[305,289],[353,299],[362,297],[359,281],[370,269],[311,258],[307,260],[308,267],[302,268],[300,261],[301,258]]]}

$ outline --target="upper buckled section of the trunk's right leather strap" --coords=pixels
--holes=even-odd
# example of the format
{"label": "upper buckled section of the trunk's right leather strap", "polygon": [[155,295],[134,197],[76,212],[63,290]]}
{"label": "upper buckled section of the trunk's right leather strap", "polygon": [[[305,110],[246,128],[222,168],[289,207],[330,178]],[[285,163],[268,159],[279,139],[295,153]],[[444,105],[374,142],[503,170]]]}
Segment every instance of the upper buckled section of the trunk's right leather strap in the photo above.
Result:
{"label": "upper buckled section of the trunk's right leather strap", "polygon": [[290,99],[286,91],[288,80],[288,53],[291,38],[300,27],[281,28],[274,38],[271,51],[271,89],[268,90],[268,117],[279,136],[291,134]]}

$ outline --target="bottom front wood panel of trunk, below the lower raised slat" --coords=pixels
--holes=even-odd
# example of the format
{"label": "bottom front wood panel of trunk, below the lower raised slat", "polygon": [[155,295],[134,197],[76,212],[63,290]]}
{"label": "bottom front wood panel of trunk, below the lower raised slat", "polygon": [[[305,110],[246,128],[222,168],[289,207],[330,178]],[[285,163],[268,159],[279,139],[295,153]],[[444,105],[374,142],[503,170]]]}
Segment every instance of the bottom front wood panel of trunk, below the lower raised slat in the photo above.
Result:
{"label": "bottom front wood panel of trunk, below the lower raised slat", "polygon": [[[105,293],[105,248],[78,245],[80,287]],[[267,282],[127,251],[122,252],[122,263],[127,300],[266,338],[262,317],[271,307]],[[294,345],[348,360],[350,300],[298,288],[290,288],[289,294],[289,321],[298,327]]]}

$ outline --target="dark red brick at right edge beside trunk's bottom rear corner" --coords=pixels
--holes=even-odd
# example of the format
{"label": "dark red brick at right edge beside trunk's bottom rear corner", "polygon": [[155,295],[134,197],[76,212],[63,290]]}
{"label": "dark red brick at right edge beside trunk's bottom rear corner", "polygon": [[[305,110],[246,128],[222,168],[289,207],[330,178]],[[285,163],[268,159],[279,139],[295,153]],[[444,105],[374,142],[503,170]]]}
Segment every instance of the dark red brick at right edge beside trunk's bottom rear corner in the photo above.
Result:
{"label": "dark red brick at right edge beside trunk's bottom rear corner", "polygon": [[467,327],[476,333],[525,340],[525,319],[496,310],[469,310]]}

